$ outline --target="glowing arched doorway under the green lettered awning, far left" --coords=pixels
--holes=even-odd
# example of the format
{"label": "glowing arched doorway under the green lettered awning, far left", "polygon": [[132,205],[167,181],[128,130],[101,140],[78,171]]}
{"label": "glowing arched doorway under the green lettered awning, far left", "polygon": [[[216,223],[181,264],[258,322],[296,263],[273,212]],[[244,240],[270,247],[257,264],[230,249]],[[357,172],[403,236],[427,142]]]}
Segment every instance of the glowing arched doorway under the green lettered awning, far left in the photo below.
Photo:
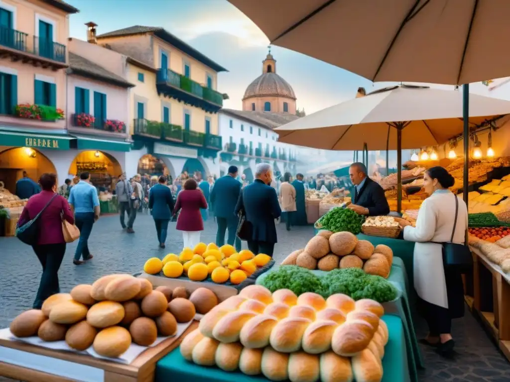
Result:
{"label": "glowing arched doorway under the green lettered awning, far left", "polygon": [[12,194],[16,192],[16,182],[22,178],[23,171],[35,182],[44,173],[57,173],[53,162],[31,147],[14,147],[0,152],[0,180]]}

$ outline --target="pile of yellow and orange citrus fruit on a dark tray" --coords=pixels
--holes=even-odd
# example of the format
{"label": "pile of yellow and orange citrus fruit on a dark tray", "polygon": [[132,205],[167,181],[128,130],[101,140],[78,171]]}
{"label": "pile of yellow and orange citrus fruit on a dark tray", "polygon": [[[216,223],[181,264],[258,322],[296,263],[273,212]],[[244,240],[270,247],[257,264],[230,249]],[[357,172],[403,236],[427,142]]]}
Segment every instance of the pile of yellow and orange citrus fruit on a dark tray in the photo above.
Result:
{"label": "pile of yellow and orange citrus fruit on a dark tray", "polygon": [[185,275],[192,281],[203,281],[210,276],[218,284],[227,281],[240,284],[270,260],[263,253],[254,255],[248,250],[237,253],[229,244],[218,248],[215,243],[198,243],[193,249],[184,248],[179,255],[169,253],[163,260],[152,257],[145,262],[143,270],[149,275],[163,271],[170,278]]}

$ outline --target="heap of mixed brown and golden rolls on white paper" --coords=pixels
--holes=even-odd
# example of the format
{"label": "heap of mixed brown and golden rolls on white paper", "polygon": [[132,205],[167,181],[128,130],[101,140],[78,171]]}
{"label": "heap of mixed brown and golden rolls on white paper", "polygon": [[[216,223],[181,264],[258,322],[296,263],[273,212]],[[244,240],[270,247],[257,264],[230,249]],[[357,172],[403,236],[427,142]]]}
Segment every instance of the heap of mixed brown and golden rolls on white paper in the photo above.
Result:
{"label": "heap of mixed brown and golden rolls on white paper", "polygon": [[146,279],[109,275],[48,297],[41,310],[18,315],[10,331],[18,338],[65,340],[79,351],[93,346],[99,356],[117,358],[132,342],[150,346],[158,336],[175,335],[177,322],[189,322],[197,311],[207,313],[218,304],[209,289],[199,288],[189,299],[183,289],[153,290]]}

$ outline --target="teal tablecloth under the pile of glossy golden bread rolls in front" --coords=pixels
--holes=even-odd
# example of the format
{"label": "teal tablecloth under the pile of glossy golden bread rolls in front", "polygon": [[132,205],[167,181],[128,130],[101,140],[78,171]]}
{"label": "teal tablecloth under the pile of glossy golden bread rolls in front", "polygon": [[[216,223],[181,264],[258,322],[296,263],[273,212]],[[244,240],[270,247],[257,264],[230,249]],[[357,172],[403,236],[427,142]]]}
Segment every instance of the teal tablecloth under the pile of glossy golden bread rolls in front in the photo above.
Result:
{"label": "teal tablecloth under the pile of glossy golden bread rolls in front", "polygon": [[[411,382],[407,367],[407,354],[402,320],[397,316],[385,315],[382,319],[388,325],[389,341],[385,347],[385,356],[382,359],[384,376],[382,382]],[[196,328],[197,323],[189,330]],[[226,372],[217,367],[205,367],[186,361],[180,349],[173,349],[167,356],[158,361],[156,365],[155,382],[171,380],[185,380],[186,382],[256,382],[267,381],[263,375],[250,376],[240,371]]]}

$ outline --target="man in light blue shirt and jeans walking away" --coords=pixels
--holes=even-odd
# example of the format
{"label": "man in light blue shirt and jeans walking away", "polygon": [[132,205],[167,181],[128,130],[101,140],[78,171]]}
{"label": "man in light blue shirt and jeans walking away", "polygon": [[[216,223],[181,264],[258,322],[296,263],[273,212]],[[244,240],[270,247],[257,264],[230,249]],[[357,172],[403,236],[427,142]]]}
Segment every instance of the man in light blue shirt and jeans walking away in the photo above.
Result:
{"label": "man in light blue shirt and jeans walking away", "polygon": [[[88,240],[92,226],[99,219],[99,198],[96,188],[90,184],[90,173],[80,174],[80,181],[69,193],[69,205],[74,212],[76,226],[80,230],[80,240],[72,262],[74,265],[81,265],[93,257],[89,251]],[[83,260],[80,260],[82,256]]]}

